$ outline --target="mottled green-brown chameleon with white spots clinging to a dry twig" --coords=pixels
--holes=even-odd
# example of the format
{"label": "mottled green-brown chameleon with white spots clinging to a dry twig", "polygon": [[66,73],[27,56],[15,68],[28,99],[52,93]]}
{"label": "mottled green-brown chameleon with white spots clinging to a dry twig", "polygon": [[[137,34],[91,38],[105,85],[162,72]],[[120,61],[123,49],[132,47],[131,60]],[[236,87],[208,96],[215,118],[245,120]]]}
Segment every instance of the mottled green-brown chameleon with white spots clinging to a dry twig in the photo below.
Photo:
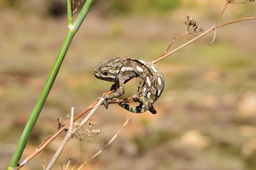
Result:
{"label": "mottled green-brown chameleon with white spots clinging to a dry twig", "polygon": [[[108,99],[119,100],[117,97],[124,94],[124,83],[134,77],[141,77],[144,83],[141,91],[136,92],[132,99],[139,102],[138,106],[131,106],[124,102],[117,103],[124,109],[133,113],[144,113],[150,111],[155,114],[154,102],[159,98],[164,89],[164,74],[153,63],[141,59],[114,58],[109,61],[101,61],[94,69],[94,76],[105,81],[115,82],[110,88],[112,94],[105,96],[103,104],[108,108]],[[117,88],[119,91],[117,92]]]}

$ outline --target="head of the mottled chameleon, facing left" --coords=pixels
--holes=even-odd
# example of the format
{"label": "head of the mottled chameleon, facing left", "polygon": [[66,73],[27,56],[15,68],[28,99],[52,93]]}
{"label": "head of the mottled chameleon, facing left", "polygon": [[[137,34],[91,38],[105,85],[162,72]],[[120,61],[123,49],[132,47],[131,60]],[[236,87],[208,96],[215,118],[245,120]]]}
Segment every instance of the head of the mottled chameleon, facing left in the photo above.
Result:
{"label": "head of the mottled chameleon, facing left", "polygon": [[109,61],[103,60],[96,66],[93,74],[101,80],[116,82],[121,67],[121,58],[114,58]]}

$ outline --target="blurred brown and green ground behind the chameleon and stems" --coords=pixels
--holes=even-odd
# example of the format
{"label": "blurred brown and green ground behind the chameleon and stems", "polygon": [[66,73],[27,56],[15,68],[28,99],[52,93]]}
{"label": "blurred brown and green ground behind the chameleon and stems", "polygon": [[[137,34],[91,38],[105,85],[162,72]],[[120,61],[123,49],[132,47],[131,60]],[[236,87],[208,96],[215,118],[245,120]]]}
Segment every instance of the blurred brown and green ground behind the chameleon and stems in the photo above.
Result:
{"label": "blurred brown and green ground behind the chameleon and stems", "polygon": [[[83,2],[84,3],[84,2]],[[81,4],[81,7],[83,5]],[[208,30],[225,0],[95,0],[66,54],[27,147],[25,159],[71,107],[75,114],[108,92],[94,77],[99,61],[133,57],[153,61],[186,32],[186,15]],[[81,8],[79,8],[81,9]],[[218,24],[256,16],[256,4],[229,4]],[[0,0],[0,169],[6,169],[67,32],[66,2]],[[74,18],[79,12],[74,14]],[[217,25],[218,25],[217,24]],[[156,65],[165,88],[157,114],[100,107],[83,141],[84,159],[103,148],[127,118],[132,121],[87,170],[253,170],[256,168],[256,22],[220,27]],[[175,41],[170,50],[192,39]],[[137,90],[126,84],[124,97]],[[85,127],[85,129],[88,127]],[[22,169],[43,169],[58,137]],[[86,142],[89,140],[89,142]],[[70,139],[53,169],[81,159],[79,138]],[[68,169],[71,169],[69,166]]]}

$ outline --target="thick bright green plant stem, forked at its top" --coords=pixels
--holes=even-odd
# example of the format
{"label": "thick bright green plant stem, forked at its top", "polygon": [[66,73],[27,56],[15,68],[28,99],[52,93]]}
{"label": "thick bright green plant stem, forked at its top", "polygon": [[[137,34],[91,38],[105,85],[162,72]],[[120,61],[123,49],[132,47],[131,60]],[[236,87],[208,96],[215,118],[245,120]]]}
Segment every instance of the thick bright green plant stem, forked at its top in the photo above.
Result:
{"label": "thick bright green plant stem, forked at its top", "polygon": [[[45,82],[45,85],[43,86],[43,89],[40,93],[40,96],[38,97],[38,100],[34,106],[33,111],[31,112],[31,115],[29,117],[29,120],[27,121],[27,124],[23,130],[23,133],[19,139],[19,142],[16,146],[16,150],[13,153],[13,157],[9,164],[9,170],[15,169],[18,166],[18,162],[20,161],[20,157],[25,149],[25,146],[27,144],[27,141],[29,139],[29,136],[31,134],[32,129],[34,128],[34,125],[36,124],[36,120],[38,119],[38,116],[43,108],[43,105],[45,103],[45,100],[52,88],[52,85],[54,83],[54,80],[58,74],[59,69],[61,68],[61,64],[65,58],[65,54],[70,46],[70,43],[78,31],[79,27],[81,26],[84,18],[86,17],[88,11],[90,10],[90,7],[92,6],[92,3],[94,0],[87,0],[83,6],[83,9],[81,10],[79,17],[76,19],[76,26],[72,26],[72,7],[71,7],[71,0],[67,0],[67,11],[68,11],[68,31],[67,35],[65,37],[65,40],[63,41],[63,44],[61,46],[61,49],[58,53],[58,56],[56,57],[56,60],[54,62],[54,65],[52,67],[51,72],[49,73],[49,76]],[[71,11],[71,15],[70,15]],[[70,17],[71,16],[71,17]],[[75,28],[75,29],[72,29]]]}

